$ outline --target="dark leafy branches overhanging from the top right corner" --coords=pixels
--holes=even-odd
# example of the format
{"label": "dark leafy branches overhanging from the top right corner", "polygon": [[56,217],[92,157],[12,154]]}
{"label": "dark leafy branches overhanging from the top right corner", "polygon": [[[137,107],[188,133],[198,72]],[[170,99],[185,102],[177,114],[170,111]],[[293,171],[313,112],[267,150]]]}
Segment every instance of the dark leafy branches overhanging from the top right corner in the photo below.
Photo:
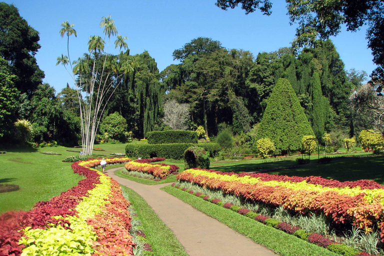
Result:
{"label": "dark leafy branches overhanging from the top right corner", "polygon": [[[297,24],[292,46],[314,46],[317,39],[337,35],[341,26],[356,31],[368,24],[366,38],[372,50],[373,62],[378,67],[372,72],[374,81],[384,79],[384,2],[382,0],[285,0],[290,24]],[[241,4],[245,14],[259,9],[271,13],[271,0],[217,0],[216,6],[226,10]]]}

